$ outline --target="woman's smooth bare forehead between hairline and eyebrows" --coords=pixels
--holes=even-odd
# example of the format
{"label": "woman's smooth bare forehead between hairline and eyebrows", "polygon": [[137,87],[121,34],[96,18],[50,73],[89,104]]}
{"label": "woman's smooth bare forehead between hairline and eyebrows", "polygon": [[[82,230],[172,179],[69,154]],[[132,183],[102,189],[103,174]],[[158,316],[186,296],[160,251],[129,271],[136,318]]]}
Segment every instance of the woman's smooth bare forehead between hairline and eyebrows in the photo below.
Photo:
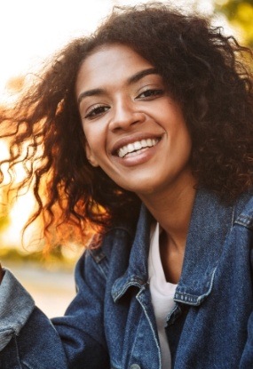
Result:
{"label": "woman's smooth bare forehead between hairline and eyebrows", "polygon": [[107,45],[88,56],[76,79],[76,92],[126,80],[140,70],[153,68],[138,52],[123,44]]}

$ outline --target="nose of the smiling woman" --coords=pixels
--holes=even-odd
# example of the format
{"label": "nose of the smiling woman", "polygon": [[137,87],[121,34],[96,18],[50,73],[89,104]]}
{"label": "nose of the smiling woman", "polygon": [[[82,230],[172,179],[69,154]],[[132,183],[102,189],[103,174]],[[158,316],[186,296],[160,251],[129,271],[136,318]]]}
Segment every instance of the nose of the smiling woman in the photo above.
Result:
{"label": "nose of the smiling woman", "polygon": [[113,107],[113,116],[110,122],[112,131],[128,130],[135,124],[143,123],[145,113],[138,109],[138,104],[131,100],[118,100]]}

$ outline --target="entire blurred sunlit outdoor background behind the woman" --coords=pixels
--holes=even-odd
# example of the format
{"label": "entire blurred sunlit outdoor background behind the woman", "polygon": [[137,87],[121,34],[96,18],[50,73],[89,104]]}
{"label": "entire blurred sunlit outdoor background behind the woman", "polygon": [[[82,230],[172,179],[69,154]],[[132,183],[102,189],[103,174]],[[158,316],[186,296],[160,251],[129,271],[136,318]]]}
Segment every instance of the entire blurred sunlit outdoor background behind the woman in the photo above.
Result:
{"label": "entire blurred sunlit outdoor background behind the woman", "polygon": [[[211,14],[242,44],[253,47],[253,0],[174,0],[161,1],[184,10]],[[40,68],[43,60],[75,36],[91,33],[113,6],[147,3],[121,0],[2,0],[0,2],[0,104],[12,100],[25,76]],[[0,142],[0,157],[7,144]],[[17,172],[19,180],[22,168]],[[20,178],[19,178],[20,177]],[[49,316],[62,315],[75,295],[75,262],[83,253],[77,245],[59,245],[43,259],[43,240],[36,223],[21,243],[21,229],[35,206],[28,191],[12,203],[6,201],[6,187],[0,189],[0,261],[12,269],[33,295],[36,304]],[[6,211],[7,208],[7,211]]]}

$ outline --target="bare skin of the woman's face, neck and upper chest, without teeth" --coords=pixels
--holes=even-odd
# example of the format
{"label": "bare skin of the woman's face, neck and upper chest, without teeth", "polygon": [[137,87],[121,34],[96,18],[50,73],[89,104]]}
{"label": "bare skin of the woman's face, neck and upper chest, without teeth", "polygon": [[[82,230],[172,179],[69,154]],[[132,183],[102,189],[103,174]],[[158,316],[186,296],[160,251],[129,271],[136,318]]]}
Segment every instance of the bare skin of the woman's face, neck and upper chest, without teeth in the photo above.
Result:
{"label": "bare skin of the woman's face, neck and upper chest, without teeth", "polygon": [[[75,92],[91,165],[135,192],[161,224],[164,273],[178,283],[196,184],[178,102],[154,66],[123,44],[101,47],[84,60]],[[154,146],[120,157],[120,148],[143,139]]]}

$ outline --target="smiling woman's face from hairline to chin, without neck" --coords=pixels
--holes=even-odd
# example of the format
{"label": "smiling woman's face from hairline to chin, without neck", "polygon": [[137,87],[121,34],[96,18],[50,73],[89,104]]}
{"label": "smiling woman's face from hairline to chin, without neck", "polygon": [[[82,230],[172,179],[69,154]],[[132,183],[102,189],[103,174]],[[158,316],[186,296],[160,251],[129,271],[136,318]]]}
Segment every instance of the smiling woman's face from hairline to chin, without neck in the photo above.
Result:
{"label": "smiling woman's face from hairline to chin, without neck", "polygon": [[191,177],[191,138],[181,108],[137,52],[123,44],[93,52],[75,92],[87,157],[123,189],[145,197]]}

